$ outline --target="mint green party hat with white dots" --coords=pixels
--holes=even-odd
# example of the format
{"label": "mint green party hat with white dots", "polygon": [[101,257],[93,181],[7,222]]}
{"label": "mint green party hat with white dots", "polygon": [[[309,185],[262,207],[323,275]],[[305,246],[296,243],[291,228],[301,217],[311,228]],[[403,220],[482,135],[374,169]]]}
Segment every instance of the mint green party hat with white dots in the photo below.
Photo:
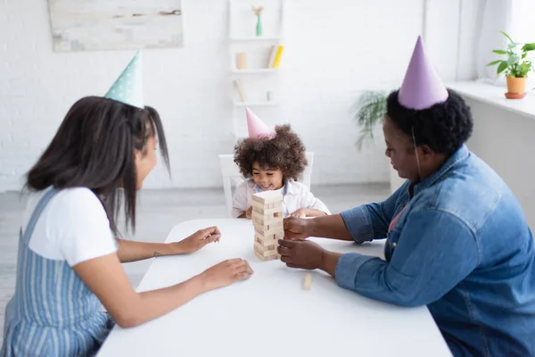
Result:
{"label": "mint green party hat with white dots", "polygon": [[120,103],[144,108],[143,100],[143,72],[141,51],[137,51],[127,68],[113,83],[104,98],[116,100]]}

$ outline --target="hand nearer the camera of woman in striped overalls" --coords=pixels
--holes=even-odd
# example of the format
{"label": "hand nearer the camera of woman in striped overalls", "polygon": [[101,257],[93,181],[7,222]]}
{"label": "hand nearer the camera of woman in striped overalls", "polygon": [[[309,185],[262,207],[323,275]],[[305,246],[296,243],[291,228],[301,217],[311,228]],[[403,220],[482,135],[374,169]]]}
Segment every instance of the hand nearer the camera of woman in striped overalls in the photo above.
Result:
{"label": "hand nearer the camera of woman in striped overalls", "polygon": [[210,269],[204,270],[199,277],[202,278],[202,284],[208,291],[229,286],[238,280],[248,279],[252,273],[247,261],[236,258],[220,262]]}

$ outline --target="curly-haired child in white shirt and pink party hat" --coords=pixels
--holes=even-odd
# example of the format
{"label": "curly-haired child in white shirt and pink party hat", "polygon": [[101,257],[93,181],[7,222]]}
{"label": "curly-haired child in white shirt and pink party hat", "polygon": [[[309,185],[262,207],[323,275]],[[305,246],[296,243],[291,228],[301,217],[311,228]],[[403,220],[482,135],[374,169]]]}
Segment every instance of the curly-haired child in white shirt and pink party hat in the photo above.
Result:
{"label": "curly-haired child in white shirt and pink party hat", "polygon": [[284,217],[317,217],[331,214],[325,203],[296,179],[305,170],[305,146],[290,125],[272,132],[251,112],[247,112],[249,138],[235,145],[235,163],[245,179],[236,188],[232,216],[251,219],[254,193],[274,190],[283,195]]}

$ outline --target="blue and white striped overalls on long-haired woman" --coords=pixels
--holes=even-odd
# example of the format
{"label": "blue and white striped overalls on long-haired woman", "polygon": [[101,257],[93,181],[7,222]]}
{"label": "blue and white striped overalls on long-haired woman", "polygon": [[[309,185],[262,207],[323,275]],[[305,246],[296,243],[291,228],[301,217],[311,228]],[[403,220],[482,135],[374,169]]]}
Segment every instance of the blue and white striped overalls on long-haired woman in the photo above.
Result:
{"label": "blue and white striped overalls on long-haired woman", "polygon": [[36,222],[57,192],[46,191],[24,233],[21,228],[15,294],[5,308],[2,357],[92,355],[113,326],[67,262],[29,249]]}

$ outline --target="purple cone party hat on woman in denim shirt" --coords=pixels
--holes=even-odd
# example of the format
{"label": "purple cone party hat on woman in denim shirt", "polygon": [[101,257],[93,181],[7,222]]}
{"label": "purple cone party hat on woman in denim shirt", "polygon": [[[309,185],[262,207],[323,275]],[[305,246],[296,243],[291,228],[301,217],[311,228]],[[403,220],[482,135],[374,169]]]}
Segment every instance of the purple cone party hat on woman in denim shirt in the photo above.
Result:
{"label": "purple cone party hat on woman in denim shirt", "polygon": [[399,104],[407,109],[423,110],[446,102],[448,96],[448,90],[425,54],[422,37],[418,36],[405,79],[399,88]]}

